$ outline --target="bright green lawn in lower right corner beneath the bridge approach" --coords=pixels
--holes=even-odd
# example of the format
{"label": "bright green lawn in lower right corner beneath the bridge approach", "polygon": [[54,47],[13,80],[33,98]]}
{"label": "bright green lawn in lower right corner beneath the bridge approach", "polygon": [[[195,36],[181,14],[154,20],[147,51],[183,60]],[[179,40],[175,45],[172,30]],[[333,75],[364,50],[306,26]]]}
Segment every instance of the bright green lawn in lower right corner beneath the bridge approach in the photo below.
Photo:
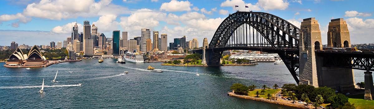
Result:
{"label": "bright green lawn in lower right corner beneath the bridge approach", "polygon": [[374,109],[374,100],[364,100],[364,94],[348,96],[348,101],[355,104],[356,109]]}

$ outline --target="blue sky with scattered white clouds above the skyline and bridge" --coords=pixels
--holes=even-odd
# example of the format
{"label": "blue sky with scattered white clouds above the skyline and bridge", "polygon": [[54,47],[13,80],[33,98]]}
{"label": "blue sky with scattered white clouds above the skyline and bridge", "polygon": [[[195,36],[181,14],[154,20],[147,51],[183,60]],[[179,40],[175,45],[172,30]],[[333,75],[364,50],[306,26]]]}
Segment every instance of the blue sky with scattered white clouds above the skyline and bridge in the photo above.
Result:
{"label": "blue sky with scattered white clouds above the skyline and bridge", "polygon": [[[113,30],[140,36],[141,28],[168,34],[168,41],[186,35],[187,40],[210,41],[220,23],[237,9],[267,12],[300,26],[315,17],[322,44],[327,44],[327,27],[332,18],[344,18],[351,43],[373,43],[372,0],[2,0],[0,1],[0,45],[46,45],[70,37],[71,24],[95,23],[98,32],[111,36]],[[346,6],[346,7],[342,7]],[[79,28],[82,32],[83,28]]]}

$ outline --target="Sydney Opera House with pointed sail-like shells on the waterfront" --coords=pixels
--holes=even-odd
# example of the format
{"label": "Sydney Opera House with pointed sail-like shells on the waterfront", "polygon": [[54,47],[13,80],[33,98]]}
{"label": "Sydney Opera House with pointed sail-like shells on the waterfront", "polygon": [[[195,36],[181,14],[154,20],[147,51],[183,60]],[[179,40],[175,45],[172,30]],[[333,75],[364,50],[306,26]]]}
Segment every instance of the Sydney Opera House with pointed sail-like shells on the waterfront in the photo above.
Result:
{"label": "Sydney Opera House with pointed sail-like shells on the waterfront", "polygon": [[23,54],[22,50],[17,49],[7,59],[6,67],[44,67],[48,61],[40,52],[37,46],[31,48],[28,54]]}

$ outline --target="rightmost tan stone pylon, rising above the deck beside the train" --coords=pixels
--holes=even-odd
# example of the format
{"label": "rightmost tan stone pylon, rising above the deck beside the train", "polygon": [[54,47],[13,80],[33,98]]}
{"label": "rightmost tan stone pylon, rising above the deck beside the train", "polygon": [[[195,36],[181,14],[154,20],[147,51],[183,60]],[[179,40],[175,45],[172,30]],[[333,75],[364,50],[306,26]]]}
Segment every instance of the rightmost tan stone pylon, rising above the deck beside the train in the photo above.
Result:
{"label": "rightmost tan stone pylon, rising above the deck beside the train", "polygon": [[346,21],[343,18],[331,19],[327,32],[328,47],[350,47],[350,37]]}

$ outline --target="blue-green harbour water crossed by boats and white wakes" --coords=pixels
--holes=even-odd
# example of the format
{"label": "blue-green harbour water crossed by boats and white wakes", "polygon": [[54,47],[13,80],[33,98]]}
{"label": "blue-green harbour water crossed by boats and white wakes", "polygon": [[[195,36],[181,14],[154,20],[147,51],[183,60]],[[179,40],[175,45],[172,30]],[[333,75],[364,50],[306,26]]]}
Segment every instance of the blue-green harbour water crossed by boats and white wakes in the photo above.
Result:
{"label": "blue-green harbour water crossed by boats and white wakes", "polygon": [[[114,62],[89,59],[32,69],[1,66],[0,108],[295,109],[227,96],[234,83],[257,87],[295,83],[284,64],[187,67]],[[148,65],[164,72],[150,72],[145,69]],[[58,82],[50,82],[57,70]],[[356,82],[364,80],[363,74],[355,70]],[[40,94],[43,78],[45,93]]]}

